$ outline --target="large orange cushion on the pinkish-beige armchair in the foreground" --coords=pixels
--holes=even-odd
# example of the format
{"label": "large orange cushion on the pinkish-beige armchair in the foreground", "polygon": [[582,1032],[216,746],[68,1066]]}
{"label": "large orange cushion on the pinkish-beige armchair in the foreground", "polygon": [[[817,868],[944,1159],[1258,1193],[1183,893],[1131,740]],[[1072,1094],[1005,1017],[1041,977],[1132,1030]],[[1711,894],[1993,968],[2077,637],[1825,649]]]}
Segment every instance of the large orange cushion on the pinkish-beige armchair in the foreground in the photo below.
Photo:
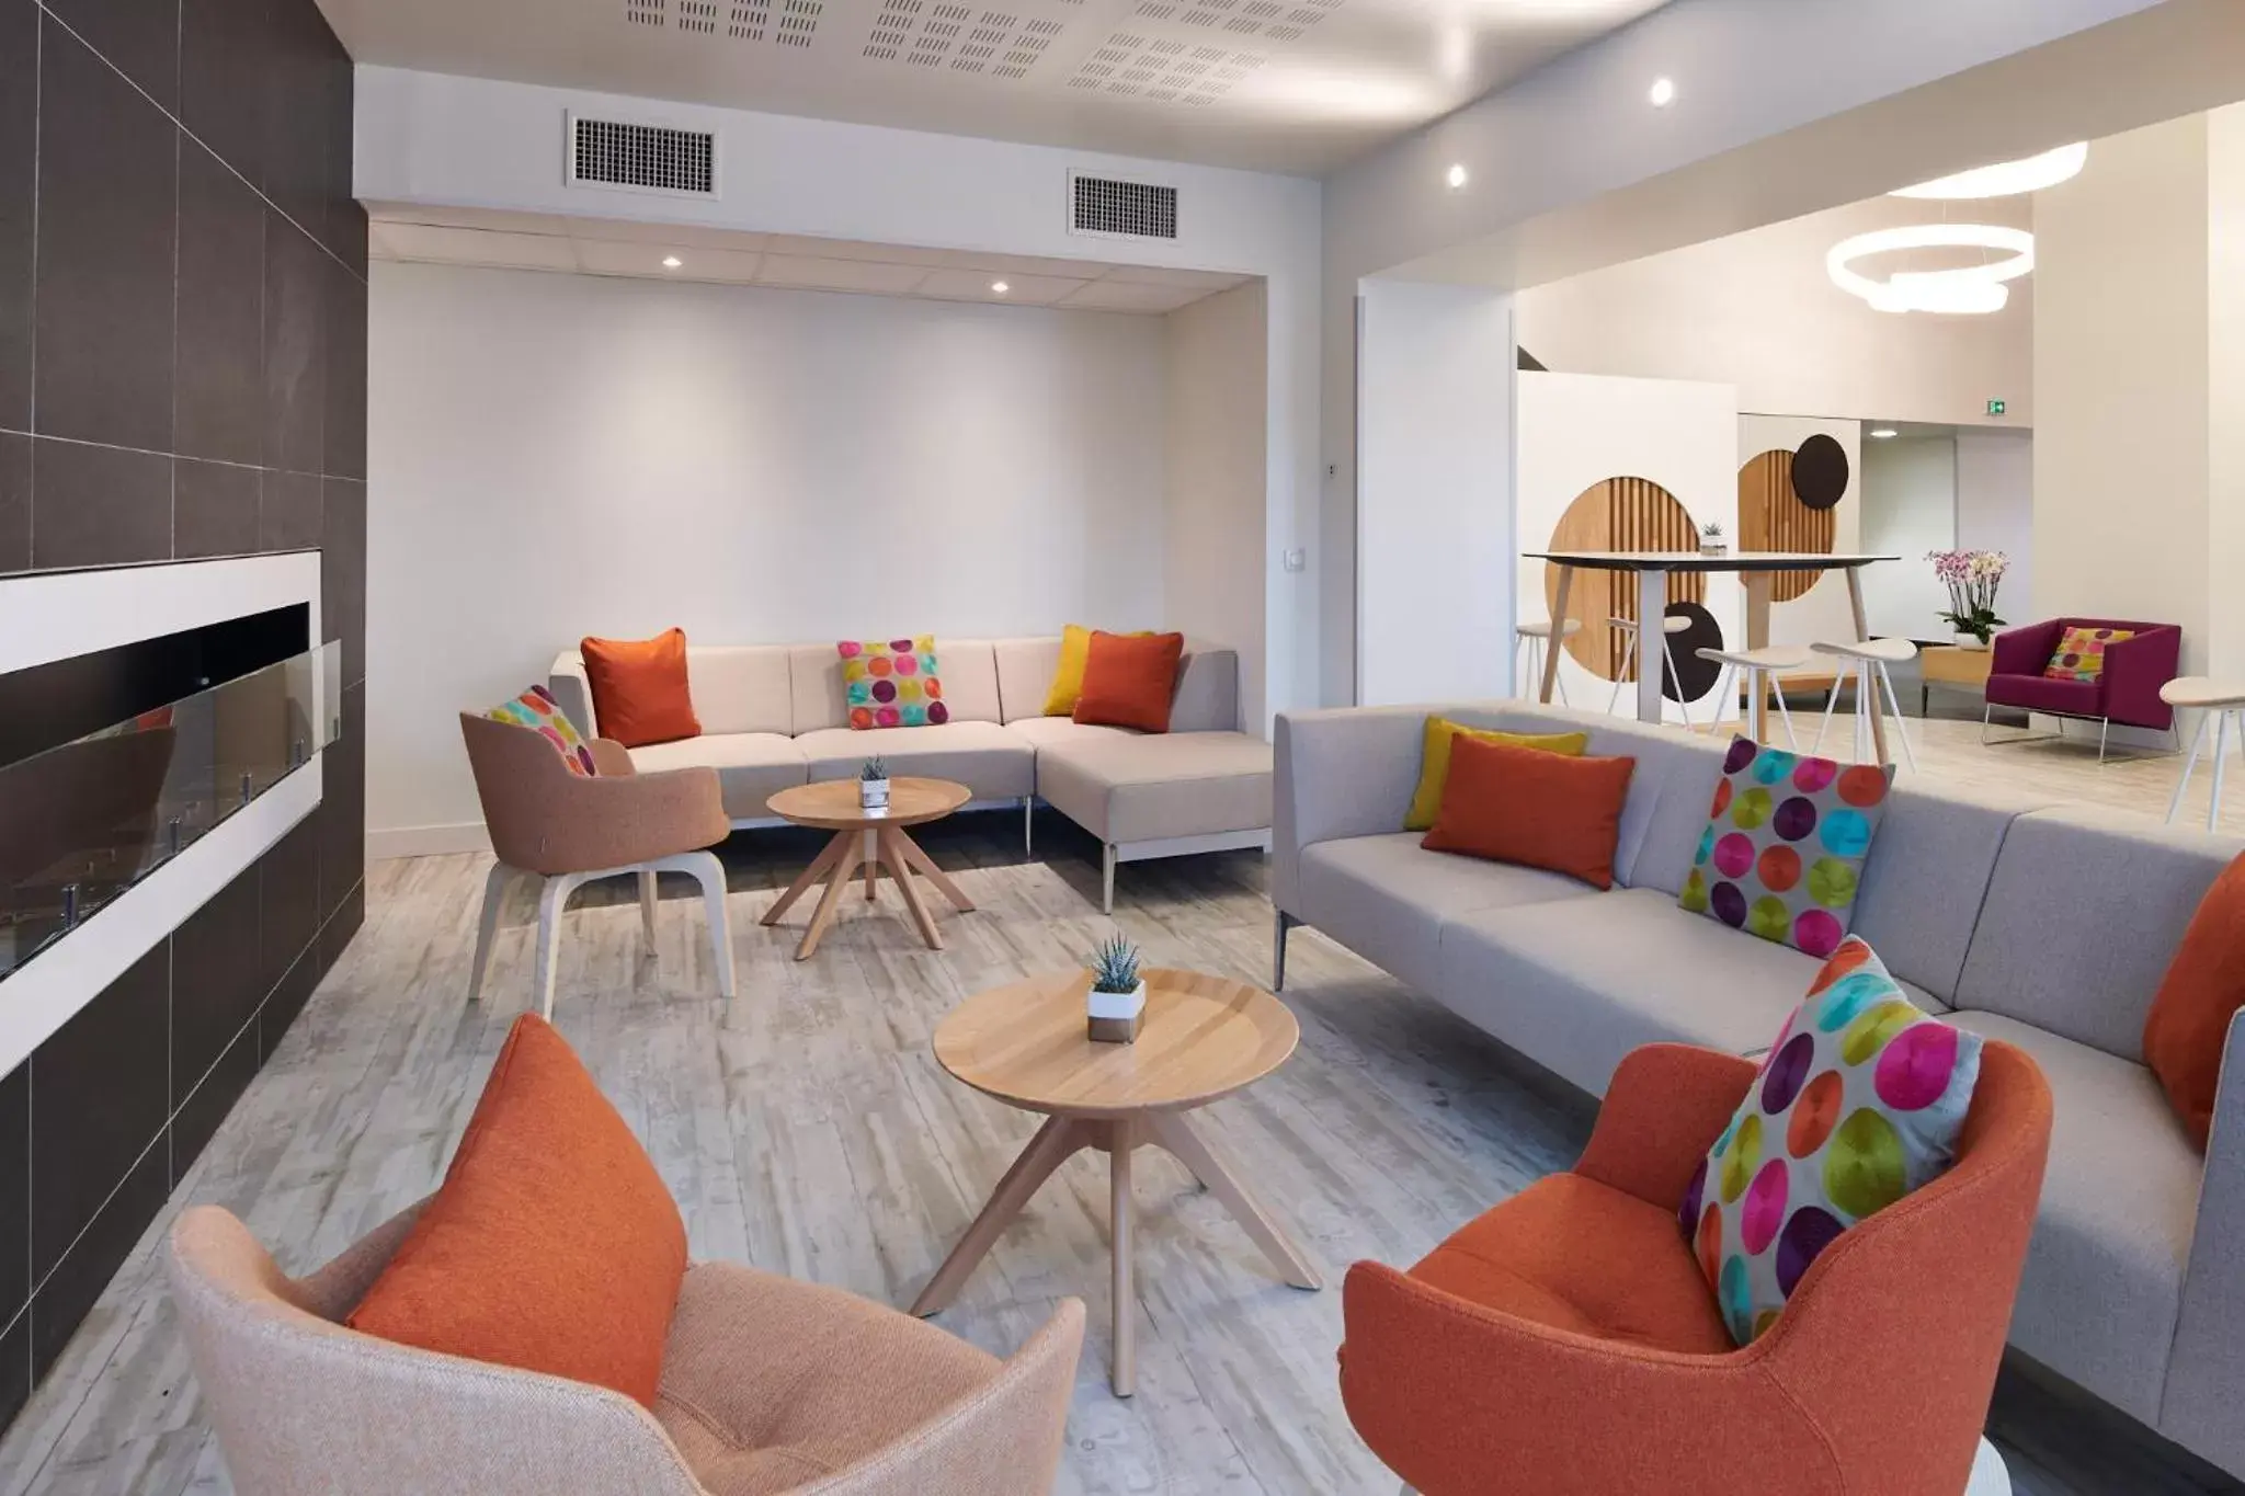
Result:
{"label": "large orange cushion on the pinkish-beige armchair in the foreground", "polygon": [[352,1330],[656,1402],[687,1229],[568,1043],[514,1021],[445,1186]]}

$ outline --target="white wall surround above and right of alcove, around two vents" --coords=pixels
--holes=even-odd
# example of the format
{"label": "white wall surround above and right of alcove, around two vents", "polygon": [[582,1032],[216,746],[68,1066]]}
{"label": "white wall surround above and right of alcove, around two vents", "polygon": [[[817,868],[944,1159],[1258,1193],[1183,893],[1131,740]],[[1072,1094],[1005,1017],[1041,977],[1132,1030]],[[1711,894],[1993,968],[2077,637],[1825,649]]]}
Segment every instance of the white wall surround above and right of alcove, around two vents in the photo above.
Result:
{"label": "white wall surround above and right of alcove, around two vents", "polygon": [[[570,188],[561,175],[566,110],[660,117],[723,137],[714,202]],[[1105,240],[1069,231],[1069,170],[1179,188],[1179,238]],[[1262,424],[1264,680],[1271,709],[1316,700],[1313,572],[1286,547],[1318,543],[1318,182],[1143,161],[1089,150],[889,130],[826,119],[653,103],[586,90],[357,70],[355,191],[368,202],[635,218],[763,233],[813,233],[1078,260],[1129,260],[1266,278]],[[370,489],[368,507],[384,502]],[[1340,606],[1347,606],[1343,592]],[[1304,641],[1298,648],[1298,641]]]}

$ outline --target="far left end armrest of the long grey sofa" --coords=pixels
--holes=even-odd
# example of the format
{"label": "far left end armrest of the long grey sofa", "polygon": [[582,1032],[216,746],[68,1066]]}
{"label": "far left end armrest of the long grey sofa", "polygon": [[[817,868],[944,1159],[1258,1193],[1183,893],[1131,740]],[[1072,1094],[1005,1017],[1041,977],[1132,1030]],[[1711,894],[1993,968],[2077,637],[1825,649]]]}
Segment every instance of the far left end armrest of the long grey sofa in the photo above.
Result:
{"label": "far left end armrest of the long grey sofa", "polygon": [[1403,830],[1430,711],[1441,709],[1338,707],[1277,715],[1271,902],[1282,913],[1302,913],[1302,848]]}

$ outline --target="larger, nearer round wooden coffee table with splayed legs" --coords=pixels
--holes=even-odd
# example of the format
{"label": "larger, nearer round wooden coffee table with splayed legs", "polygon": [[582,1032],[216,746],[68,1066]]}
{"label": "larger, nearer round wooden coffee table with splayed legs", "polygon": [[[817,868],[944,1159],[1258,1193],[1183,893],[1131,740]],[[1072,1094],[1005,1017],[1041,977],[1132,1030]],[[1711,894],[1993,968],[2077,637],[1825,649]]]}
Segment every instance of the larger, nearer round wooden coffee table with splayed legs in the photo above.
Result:
{"label": "larger, nearer round wooden coffee table with splayed legs", "polygon": [[1114,1236],[1114,1364],[1109,1382],[1136,1382],[1131,1317],[1129,1160],[1158,1144],[1221,1200],[1295,1287],[1322,1287],[1309,1256],[1248,1193],[1239,1175],[1185,1121],[1286,1063],[1302,1029],[1268,991],[1199,971],[1147,971],[1145,1023],[1127,1045],[1084,1032],[1089,971],[1057,971],[968,998],[936,1027],[936,1061],[954,1077],[1028,1112],[1048,1112],[999,1180],[990,1204],[914,1301],[914,1314],[950,1308],[999,1234],[1051,1173],[1084,1148],[1107,1153]]}

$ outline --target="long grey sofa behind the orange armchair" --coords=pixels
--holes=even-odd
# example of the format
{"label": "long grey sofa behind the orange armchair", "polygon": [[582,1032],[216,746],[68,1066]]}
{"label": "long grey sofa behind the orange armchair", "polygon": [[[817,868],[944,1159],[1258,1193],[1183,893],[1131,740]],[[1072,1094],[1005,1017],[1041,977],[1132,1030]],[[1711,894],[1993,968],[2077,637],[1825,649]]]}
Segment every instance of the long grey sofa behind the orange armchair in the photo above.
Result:
{"label": "long grey sofa behind the orange armchair", "polygon": [[[1587,727],[1637,758],[1616,888],[1401,832],[1426,715]],[[1652,1041],[1758,1052],[1818,962],[1677,908],[1722,742],[1522,702],[1277,720],[1273,902],[1592,1095]],[[1897,785],[1854,929],[1933,1014],[2027,1050],[2056,1126],[2016,1350],[2245,1476],[2245,1018],[2205,1157],[2142,1063],[2144,1014],[2245,843]]]}

